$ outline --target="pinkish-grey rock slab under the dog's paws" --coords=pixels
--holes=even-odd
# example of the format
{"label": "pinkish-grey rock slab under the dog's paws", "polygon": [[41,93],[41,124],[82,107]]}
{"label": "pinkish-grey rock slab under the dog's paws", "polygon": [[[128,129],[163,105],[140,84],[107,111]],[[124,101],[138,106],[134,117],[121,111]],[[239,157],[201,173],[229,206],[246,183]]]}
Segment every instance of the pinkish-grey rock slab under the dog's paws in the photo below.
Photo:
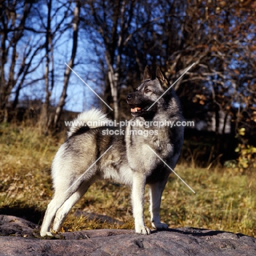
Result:
{"label": "pinkish-grey rock slab under the dog's paws", "polygon": [[256,238],[220,230],[178,228],[138,235],[103,229],[44,239],[38,234],[39,226],[27,220],[0,216],[0,255],[256,255]]}

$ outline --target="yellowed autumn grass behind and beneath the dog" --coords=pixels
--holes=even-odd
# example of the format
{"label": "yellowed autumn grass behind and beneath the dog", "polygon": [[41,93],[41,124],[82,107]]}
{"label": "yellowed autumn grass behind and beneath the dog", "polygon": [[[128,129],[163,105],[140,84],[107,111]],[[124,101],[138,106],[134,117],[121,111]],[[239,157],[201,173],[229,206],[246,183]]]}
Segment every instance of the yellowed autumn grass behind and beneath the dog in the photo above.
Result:
{"label": "yellowed autumn grass behind and beneath the dog", "polygon": [[[23,212],[41,223],[53,190],[50,165],[61,139],[40,135],[38,127],[0,127],[0,213]],[[161,219],[170,228],[194,226],[240,232],[256,237],[256,173],[240,172],[236,168],[191,168],[178,165],[175,171],[196,194],[192,193],[176,176],[170,176],[161,203]],[[145,219],[150,226],[149,197],[146,194]],[[83,210],[113,217],[123,225],[101,223],[88,217],[75,216]],[[21,214],[21,215],[22,215]],[[133,229],[130,189],[124,185],[99,181],[68,214],[63,230],[125,228]]]}

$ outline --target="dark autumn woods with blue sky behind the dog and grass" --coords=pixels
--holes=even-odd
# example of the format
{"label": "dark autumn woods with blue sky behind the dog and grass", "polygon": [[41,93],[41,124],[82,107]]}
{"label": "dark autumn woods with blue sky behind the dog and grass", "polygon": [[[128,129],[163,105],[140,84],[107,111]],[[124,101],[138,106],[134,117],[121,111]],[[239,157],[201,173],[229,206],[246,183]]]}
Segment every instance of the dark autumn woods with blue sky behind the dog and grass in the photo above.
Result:
{"label": "dark autumn woods with blue sky behind the dog and grass", "polygon": [[250,0],[1,0],[0,123],[32,120],[45,136],[64,129],[75,75],[63,60],[94,79],[114,111],[88,91],[90,104],[117,120],[130,119],[125,96],[146,65],[160,65],[172,84],[195,62],[173,86],[196,125],[181,159],[256,167],[255,13]]}

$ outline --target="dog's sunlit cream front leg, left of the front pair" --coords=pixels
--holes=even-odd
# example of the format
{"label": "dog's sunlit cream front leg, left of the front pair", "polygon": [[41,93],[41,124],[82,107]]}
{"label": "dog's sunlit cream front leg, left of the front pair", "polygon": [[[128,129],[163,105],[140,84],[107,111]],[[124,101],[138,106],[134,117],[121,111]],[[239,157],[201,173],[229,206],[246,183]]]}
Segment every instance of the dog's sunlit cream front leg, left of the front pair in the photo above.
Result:
{"label": "dog's sunlit cream front leg, left of the front pair", "polygon": [[143,173],[134,173],[132,183],[132,207],[135,219],[135,232],[149,235],[151,230],[144,224],[144,193],[146,177]]}

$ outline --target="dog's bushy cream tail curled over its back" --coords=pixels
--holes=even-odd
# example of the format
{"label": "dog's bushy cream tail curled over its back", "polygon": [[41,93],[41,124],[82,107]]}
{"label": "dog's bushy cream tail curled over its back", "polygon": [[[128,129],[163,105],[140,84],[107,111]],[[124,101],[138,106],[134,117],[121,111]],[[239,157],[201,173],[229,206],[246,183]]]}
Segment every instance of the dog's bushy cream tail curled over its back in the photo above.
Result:
{"label": "dog's bushy cream tail curled over its back", "polygon": [[72,122],[69,122],[71,123],[71,126],[67,132],[67,137],[71,137],[81,127],[97,128],[108,125],[110,121],[111,120],[107,118],[107,115],[100,109],[92,108],[88,111],[80,113],[77,118],[75,118]]}

